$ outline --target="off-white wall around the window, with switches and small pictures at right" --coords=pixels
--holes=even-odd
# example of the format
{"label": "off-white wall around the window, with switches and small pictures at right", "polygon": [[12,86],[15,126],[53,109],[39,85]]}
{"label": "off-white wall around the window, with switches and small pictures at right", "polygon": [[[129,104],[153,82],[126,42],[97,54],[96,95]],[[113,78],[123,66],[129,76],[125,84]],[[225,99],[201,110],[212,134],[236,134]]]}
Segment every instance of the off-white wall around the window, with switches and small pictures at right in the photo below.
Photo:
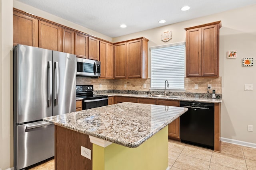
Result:
{"label": "off-white wall around the window, with switches and small pictures at right", "polygon": [[[176,43],[186,40],[184,28],[222,21],[220,28],[220,76],[222,77],[223,103],[221,104],[221,137],[256,144],[256,130],[247,131],[247,125],[256,128],[256,89],[244,91],[244,84],[254,84],[256,88],[256,5],[196,18],[130,35],[116,37],[113,42],[146,37],[148,48],[155,45]],[[161,41],[162,32],[170,29],[172,40]],[[237,50],[236,59],[227,59],[227,51]],[[149,72],[150,65],[150,50]],[[254,57],[254,66],[242,67],[242,58]],[[151,73],[150,73],[151,74]],[[149,74],[149,75],[150,75]]]}

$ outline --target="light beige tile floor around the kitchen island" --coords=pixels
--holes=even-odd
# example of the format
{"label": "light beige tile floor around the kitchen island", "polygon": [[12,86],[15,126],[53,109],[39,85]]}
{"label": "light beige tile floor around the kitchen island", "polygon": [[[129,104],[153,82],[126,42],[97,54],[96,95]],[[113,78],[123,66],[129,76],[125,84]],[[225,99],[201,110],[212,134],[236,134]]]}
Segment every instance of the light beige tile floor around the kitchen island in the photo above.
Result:
{"label": "light beige tile floor around the kitchen island", "polygon": [[[168,147],[171,170],[256,170],[254,148],[222,142],[218,153],[173,140]],[[54,170],[54,159],[30,170]]]}

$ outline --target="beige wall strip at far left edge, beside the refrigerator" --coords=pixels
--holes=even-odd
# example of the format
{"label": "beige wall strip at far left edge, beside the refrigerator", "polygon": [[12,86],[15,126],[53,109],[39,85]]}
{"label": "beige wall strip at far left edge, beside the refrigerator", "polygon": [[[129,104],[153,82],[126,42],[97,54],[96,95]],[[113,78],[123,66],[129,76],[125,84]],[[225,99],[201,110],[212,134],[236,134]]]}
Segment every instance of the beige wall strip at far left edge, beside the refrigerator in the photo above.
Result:
{"label": "beige wall strip at far left edge, beside the refrigerator", "polygon": [[12,1],[0,0],[0,169],[13,167]]}

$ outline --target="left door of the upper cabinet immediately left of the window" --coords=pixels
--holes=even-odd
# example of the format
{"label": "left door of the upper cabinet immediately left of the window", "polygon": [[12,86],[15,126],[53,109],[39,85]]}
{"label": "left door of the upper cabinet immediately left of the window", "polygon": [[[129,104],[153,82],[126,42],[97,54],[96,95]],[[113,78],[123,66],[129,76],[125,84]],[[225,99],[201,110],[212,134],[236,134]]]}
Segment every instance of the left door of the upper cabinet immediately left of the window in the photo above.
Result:
{"label": "left door of the upper cabinet immediately left of the window", "polygon": [[114,45],[114,78],[126,78],[126,43]]}

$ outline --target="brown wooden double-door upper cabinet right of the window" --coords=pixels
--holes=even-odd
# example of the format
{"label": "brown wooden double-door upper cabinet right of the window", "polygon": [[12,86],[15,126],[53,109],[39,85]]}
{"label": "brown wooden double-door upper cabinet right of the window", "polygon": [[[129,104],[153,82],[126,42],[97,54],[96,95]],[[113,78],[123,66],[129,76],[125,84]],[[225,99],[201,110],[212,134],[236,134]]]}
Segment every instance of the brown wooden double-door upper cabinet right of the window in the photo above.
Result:
{"label": "brown wooden double-door upper cabinet right of the window", "polygon": [[186,76],[219,76],[221,21],[185,28]]}

